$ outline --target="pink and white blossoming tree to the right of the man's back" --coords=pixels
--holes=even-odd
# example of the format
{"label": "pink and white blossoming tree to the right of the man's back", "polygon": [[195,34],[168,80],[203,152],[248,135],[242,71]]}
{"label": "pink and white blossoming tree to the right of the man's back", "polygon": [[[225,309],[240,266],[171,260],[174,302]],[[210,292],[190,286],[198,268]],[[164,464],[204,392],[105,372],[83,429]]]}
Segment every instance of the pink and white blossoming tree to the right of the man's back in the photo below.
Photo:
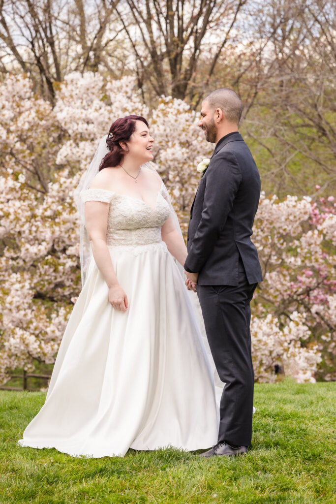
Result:
{"label": "pink and white blossoming tree to the right of the man's back", "polygon": [[275,379],[274,366],[280,364],[298,381],[313,381],[322,360],[326,378],[334,379],[333,201],[329,197],[317,204],[295,196],[279,201],[276,196],[261,195],[254,242],[264,281],[259,285],[251,326],[259,380]]}

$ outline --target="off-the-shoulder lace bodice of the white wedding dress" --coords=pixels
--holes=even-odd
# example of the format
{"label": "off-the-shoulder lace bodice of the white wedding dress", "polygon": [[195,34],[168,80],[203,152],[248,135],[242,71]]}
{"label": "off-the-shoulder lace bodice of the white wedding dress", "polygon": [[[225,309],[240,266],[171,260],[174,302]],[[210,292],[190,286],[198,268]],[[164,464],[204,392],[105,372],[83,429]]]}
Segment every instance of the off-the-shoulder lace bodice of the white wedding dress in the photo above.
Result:
{"label": "off-the-shoulder lace bodice of the white wedding dress", "polygon": [[88,189],[81,198],[87,201],[109,203],[106,232],[108,246],[136,248],[163,244],[161,226],[170,215],[165,198],[167,190],[162,183],[158,192],[155,208],[136,197],[122,195],[104,189]]}

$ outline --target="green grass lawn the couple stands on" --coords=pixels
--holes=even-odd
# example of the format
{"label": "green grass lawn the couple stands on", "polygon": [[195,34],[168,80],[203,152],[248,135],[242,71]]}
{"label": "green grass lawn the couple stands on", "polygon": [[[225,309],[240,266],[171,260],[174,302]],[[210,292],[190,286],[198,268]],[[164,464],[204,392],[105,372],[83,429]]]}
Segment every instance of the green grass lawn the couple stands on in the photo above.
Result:
{"label": "green grass lawn the couple stands on", "polygon": [[334,383],[256,385],[253,446],[234,459],[173,449],[84,459],[17,447],[44,398],[0,392],[1,504],[336,502]]}

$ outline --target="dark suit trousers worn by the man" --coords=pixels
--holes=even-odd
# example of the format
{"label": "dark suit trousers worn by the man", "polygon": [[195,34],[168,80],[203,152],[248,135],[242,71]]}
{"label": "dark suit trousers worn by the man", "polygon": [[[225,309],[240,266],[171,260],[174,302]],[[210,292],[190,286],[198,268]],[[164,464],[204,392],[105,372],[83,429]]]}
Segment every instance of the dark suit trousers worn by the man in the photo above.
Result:
{"label": "dark suit trousers worn by the man", "polygon": [[254,372],[251,358],[250,301],[257,284],[244,271],[238,285],[197,285],[210,349],[222,382],[219,441],[250,446]]}

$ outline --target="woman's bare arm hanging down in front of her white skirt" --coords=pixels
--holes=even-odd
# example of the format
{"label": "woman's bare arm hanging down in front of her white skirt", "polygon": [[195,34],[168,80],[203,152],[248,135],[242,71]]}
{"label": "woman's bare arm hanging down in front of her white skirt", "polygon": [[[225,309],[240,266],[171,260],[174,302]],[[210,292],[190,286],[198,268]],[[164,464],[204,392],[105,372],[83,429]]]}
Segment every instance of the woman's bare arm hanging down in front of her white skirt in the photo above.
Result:
{"label": "woman's bare arm hanging down in front of her white skirt", "polygon": [[98,201],[85,203],[85,225],[92,254],[109,290],[109,302],[121,311],[127,309],[127,296],[119,285],[106,244],[109,204]]}

